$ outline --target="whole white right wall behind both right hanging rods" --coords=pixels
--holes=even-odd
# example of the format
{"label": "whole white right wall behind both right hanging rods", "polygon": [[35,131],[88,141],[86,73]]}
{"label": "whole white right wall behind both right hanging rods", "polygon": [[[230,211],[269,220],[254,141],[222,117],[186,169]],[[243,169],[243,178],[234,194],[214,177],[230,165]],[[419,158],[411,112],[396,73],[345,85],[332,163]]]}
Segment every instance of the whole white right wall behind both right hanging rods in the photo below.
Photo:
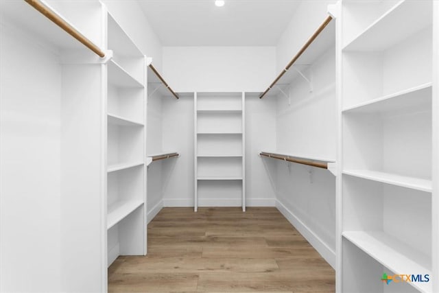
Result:
{"label": "whole white right wall behind both right hanging rods", "polygon": [[[327,18],[331,3],[335,1],[300,3],[276,47],[279,72]],[[290,86],[291,104],[283,95],[276,98],[276,148],[280,153],[335,160],[335,47],[302,70],[313,91],[298,77]],[[334,267],[335,176],[316,167],[276,164],[276,206]]]}

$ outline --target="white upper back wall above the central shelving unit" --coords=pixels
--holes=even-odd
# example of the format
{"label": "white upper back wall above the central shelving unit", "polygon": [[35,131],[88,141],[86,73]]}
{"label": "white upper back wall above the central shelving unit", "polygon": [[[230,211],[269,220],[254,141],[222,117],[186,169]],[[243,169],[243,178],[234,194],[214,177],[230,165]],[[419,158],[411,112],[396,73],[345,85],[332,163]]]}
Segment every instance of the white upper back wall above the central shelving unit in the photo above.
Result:
{"label": "white upper back wall above the central shelving unit", "polygon": [[275,75],[275,47],[163,47],[175,91],[263,91]]}

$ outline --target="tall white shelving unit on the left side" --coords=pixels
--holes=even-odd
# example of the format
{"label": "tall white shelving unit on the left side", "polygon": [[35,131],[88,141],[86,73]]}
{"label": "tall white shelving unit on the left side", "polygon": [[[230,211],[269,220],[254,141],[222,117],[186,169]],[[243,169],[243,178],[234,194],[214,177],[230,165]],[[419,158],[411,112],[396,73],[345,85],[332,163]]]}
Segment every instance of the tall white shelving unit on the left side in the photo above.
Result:
{"label": "tall white shelving unit on the left side", "polygon": [[107,266],[146,254],[146,59],[108,17]]}

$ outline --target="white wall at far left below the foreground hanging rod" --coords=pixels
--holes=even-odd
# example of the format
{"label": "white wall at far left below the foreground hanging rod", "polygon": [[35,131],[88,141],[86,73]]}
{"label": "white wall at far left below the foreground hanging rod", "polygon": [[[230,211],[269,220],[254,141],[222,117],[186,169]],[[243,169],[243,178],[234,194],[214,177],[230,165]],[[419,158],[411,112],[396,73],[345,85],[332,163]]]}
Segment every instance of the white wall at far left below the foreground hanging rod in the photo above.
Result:
{"label": "white wall at far left below the foreground hanging rod", "polygon": [[1,24],[0,291],[60,291],[58,56]]}

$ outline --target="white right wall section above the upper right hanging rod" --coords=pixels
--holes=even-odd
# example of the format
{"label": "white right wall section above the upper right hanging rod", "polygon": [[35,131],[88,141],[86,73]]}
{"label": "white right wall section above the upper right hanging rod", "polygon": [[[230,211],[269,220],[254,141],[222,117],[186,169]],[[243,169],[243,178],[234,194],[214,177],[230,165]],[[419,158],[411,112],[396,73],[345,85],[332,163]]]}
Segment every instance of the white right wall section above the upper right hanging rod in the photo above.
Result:
{"label": "white right wall section above the upper right hanging rod", "polygon": [[285,68],[296,52],[328,16],[328,5],[335,0],[301,1],[292,20],[279,38],[276,46],[276,73]]}

